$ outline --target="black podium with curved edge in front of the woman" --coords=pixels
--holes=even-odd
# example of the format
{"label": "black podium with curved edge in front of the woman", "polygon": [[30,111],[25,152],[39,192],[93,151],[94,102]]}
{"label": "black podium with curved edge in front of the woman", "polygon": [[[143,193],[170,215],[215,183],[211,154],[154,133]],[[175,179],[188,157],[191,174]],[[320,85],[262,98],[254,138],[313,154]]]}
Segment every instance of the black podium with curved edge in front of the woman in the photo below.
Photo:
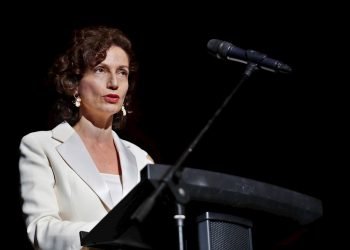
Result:
{"label": "black podium with curved edge in front of the woman", "polygon": [[[177,249],[170,192],[158,198],[142,223],[131,220],[169,167],[147,165],[141,172],[141,182],[90,232],[81,232],[82,246]],[[190,196],[185,206],[189,250],[253,249],[255,235],[276,238],[283,231],[292,232],[322,216],[320,200],[248,178],[184,168],[180,183]]]}

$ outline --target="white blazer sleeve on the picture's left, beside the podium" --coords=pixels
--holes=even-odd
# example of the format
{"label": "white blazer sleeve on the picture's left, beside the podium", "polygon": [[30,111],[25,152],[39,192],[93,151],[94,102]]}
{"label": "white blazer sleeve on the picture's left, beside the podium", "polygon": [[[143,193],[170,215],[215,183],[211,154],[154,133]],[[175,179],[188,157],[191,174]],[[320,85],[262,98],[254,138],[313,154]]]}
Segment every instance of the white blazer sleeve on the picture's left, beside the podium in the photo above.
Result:
{"label": "white blazer sleeve on the picture's left, beside the podium", "polygon": [[22,211],[27,233],[37,249],[81,249],[79,231],[90,231],[98,221],[71,222],[60,218],[55,195],[55,176],[44,143],[35,133],[20,143]]}

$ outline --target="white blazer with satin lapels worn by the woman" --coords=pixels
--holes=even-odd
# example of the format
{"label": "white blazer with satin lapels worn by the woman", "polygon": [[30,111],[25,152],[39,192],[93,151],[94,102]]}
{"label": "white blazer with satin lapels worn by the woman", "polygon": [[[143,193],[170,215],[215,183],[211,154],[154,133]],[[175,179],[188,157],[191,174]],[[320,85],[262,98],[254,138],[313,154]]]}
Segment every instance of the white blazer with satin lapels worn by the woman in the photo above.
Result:
{"label": "white blazer with satin lapels worn by the woman", "polygon": [[[138,146],[113,132],[122,169],[123,196],[152,163]],[[90,231],[113,207],[108,186],[75,130],[66,122],[30,133],[20,144],[20,184],[27,232],[36,249],[81,249],[79,231]]]}

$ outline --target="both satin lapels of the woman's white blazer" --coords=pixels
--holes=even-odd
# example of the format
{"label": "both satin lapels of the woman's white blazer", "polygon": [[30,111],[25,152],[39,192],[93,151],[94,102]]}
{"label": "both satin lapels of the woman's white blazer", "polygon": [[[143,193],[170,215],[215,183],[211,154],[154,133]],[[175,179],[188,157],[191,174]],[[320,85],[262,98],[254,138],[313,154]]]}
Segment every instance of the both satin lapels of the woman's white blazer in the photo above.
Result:
{"label": "both satin lapels of the woman's white blazer", "polygon": [[[96,165],[88,153],[83,141],[75,130],[66,122],[58,125],[52,131],[53,138],[62,142],[57,147],[58,153],[81,179],[98,195],[104,205],[113,207],[109,188],[101,177]],[[135,156],[124,145],[118,135],[113,132],[114,143],[119,152],[122,169],[123,196],[125,196],[139,180],[139,171]]]}

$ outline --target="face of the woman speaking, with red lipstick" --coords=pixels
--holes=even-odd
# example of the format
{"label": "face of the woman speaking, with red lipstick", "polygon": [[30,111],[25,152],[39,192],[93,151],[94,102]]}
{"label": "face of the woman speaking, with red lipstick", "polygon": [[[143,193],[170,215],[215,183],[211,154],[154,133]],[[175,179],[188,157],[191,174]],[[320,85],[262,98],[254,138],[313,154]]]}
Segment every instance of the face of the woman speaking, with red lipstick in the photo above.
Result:
{"label": "face of the woman speaking, with red lipstick", "polygon": [[104,61],[88,69],[80,81],[80,112],[90,118],[104,118],[119,112],[129,82],[129,58],[123,49],[111,46]]}

